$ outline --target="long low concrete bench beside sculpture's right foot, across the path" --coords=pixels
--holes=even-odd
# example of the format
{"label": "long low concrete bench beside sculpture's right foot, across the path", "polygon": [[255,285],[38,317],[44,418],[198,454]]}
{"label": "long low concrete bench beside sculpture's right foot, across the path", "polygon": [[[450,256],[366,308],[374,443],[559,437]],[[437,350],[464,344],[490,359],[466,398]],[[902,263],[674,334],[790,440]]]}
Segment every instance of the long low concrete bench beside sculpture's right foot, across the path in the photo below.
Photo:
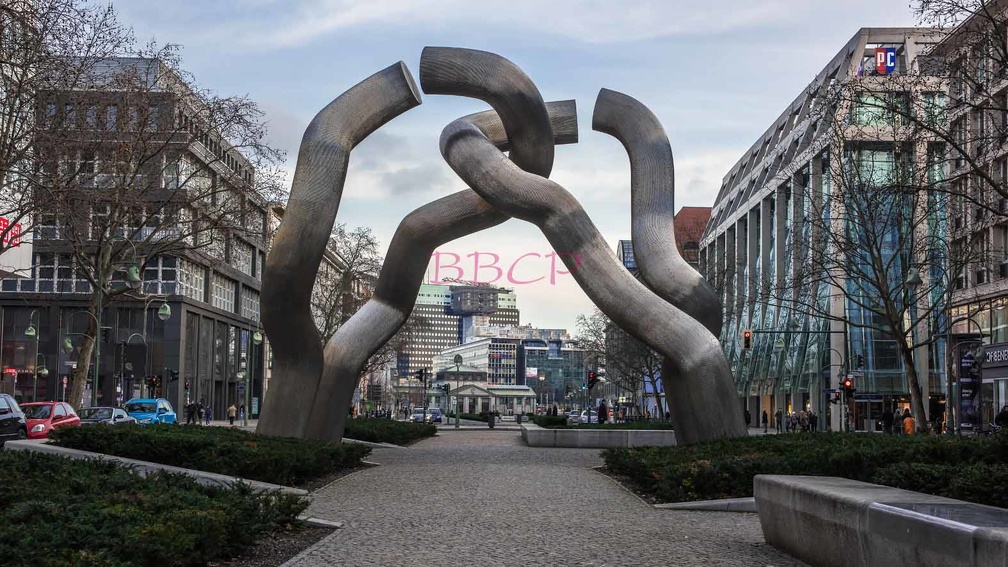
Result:
{"label": "long low concrete bench beside sculpture's right foot, across the path", "polygon": [[548,429],[522,424],[521,438],[529,447],[606,449],[675,445],[675,432],[670,429]]}

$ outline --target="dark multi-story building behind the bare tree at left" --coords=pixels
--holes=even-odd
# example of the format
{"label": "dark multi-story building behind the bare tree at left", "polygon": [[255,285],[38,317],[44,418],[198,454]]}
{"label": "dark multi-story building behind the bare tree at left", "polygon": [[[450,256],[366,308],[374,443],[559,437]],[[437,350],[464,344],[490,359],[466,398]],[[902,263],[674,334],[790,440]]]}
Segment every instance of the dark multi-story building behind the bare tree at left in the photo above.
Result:
{"label": "dark multi-story building behind the bare tree at left", "polygon": [[[104,60],[91,71],[88,88],[37,94],[35,119],[59,123],[40,134],[39,159],[58,168],[48,194],[60,197],[39,207],[30,273],[0,282],[4,375],[21,400],[61,399],[81,336],[97,326],[89,387],[74,406],[142,394],[176,409],[203,401],[217,416],[248,403],[254,417],[269,229],[255,171],[161,62]],[[107,80],[119,75],[141,83]],[[110,293],[95,294],[84,272],[102,250],[121,261]],[[96,296],[97,317],[86,311]]]}

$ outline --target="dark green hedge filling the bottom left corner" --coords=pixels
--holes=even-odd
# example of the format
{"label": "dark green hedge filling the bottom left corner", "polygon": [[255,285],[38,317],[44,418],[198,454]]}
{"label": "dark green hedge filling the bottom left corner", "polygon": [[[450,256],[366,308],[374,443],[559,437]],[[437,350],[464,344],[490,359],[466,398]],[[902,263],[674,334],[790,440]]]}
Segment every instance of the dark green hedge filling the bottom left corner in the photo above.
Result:
{"label": "dark green hedge filling the bottom left corner", "polygon": [[206,565],[299,527],[308,503],[247,484],[144,478],[111,461],[28,451],[0,451],[0,557],[34,567]]}

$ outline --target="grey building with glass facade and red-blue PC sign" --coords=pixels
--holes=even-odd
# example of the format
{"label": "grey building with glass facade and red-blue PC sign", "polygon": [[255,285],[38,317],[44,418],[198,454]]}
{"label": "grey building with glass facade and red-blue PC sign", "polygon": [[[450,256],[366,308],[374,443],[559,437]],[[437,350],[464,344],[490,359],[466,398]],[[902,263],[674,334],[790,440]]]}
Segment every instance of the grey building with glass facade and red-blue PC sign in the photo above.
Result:
{"label": "grey building with glass facade and red-blue PC sign", "polygon": [[[762,410],[770,416],[809,410],[824,428],[839,428],[843,417],[845,428],[872,429],[883,407],[908,403],[904,360],[893,337],[865,308],[874,300],[857,297],[858,282],[843,274],[809,277],[805,281],[815,284],[808,285],[798,274],[809,269],[801,250],[828,246],[822,244],[829,240],[824,231],[857,229],[848,211],[823,205],[843,201],[838,192],[854,187],[844,183],[854,173],[860,176],[854,183],[867,195],[875,180],[891,178],[906,164],[930,165],[942,151],[926,134],[900,138],[902,123],[895,121],[901,118],[882,111],[889,104],[909,108],[911,100],[923,100],[924,107],[940,105],[941,85],[901,80],[908,72],[918,73],[918,55],[936,39],[928,29],[859,30],[724,178],[700,243],[700,265],[723,297],[721,341],[740,412],[749,411],[751,425]],[[834,96],[845,89],[856,92]],[[941,240],[944,227],[937,217],[943,207],[935,195],[940,193],[915,213],[934,217],[928,235]],[[823,218],[813,217],[820,214]],[[922,260],[893,247],[901,234],[895,229],[882,244],[893,274],[907,273],[911,262]],[[793,288],[781,290],[781,282]],[[926,321],[911,325],[926,336]],[[754,333],[751,349],[744,348],[743,330]],[[931,410],[943,401],[942,354],[940,340],[914,349],[918,383]],[[857,394],[843,412],[841,405],[829,403],[842,372],[854,374],[857,382]]]}

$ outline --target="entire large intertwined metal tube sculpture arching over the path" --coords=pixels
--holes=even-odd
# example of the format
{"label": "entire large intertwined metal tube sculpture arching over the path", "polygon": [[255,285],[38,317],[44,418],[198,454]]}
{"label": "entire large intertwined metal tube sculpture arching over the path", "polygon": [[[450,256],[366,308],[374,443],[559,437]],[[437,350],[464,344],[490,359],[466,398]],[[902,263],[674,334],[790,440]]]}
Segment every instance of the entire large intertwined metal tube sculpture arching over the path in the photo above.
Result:
{"label": "entire large intertwined metal tube sculpture arching over the path", "polygon": [[745,435],[716,338],[718,299],[676,252],[671,148],[654,115],[632,98],[604,90],[594,123],[619,138],[630,155],[633,238],[645,287],[618,262],[577,199],[546,179],[553,145],[578,139],[573,101],[544,103],[511,62],[473,49],[426,47],[420,86],[427,94],[478,98],[493,108],[460,118],[442,133],[442,154],[472,189],[402,220],[373,298],[323,348],[309,299],[350,151],[418,105],[419,96],[400,63],[350,89],[312,120],[263,276],[263,326],[274,365],[258,432],[340,439],[361,369],[412,312],[433,250],[514,216],[539,226],[555,249],[577,252],[562,256],[569,264],[579,258],[578,266],[568,267],[592,301],[665,357],[665,388],[681,442]]}

